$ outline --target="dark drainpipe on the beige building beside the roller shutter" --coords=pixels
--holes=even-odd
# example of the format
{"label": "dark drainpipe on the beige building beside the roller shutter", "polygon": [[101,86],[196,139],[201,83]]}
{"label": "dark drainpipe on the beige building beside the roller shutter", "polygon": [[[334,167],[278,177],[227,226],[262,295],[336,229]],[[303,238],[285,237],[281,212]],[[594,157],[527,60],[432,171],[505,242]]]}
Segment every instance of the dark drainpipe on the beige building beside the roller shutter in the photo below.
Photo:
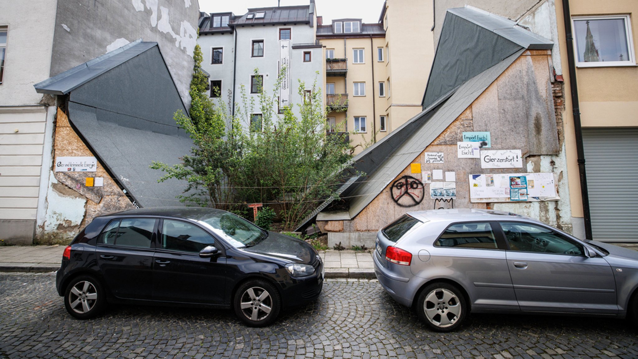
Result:
{"label": "dark drainpipe on the beige building beside the roller shutter", "polygon": [[578,86],[576,84],[576,66],[574,62],[574,36],[572,34],[572,15],[569,11],[569,0],[563,0],[563,17],[565,22],[565,39],[567,41],[567,63],[569,67],[569,87],[572,92],[572,112],[574,114],[574,133],[576,136],[576,152],[578,173],[581,179],[582,214],[585,222],[585,238],[591,236],[590,196],[587,191],[587,177],[585,175],[585,152],[582,147],[581,112],[578,101]]}

